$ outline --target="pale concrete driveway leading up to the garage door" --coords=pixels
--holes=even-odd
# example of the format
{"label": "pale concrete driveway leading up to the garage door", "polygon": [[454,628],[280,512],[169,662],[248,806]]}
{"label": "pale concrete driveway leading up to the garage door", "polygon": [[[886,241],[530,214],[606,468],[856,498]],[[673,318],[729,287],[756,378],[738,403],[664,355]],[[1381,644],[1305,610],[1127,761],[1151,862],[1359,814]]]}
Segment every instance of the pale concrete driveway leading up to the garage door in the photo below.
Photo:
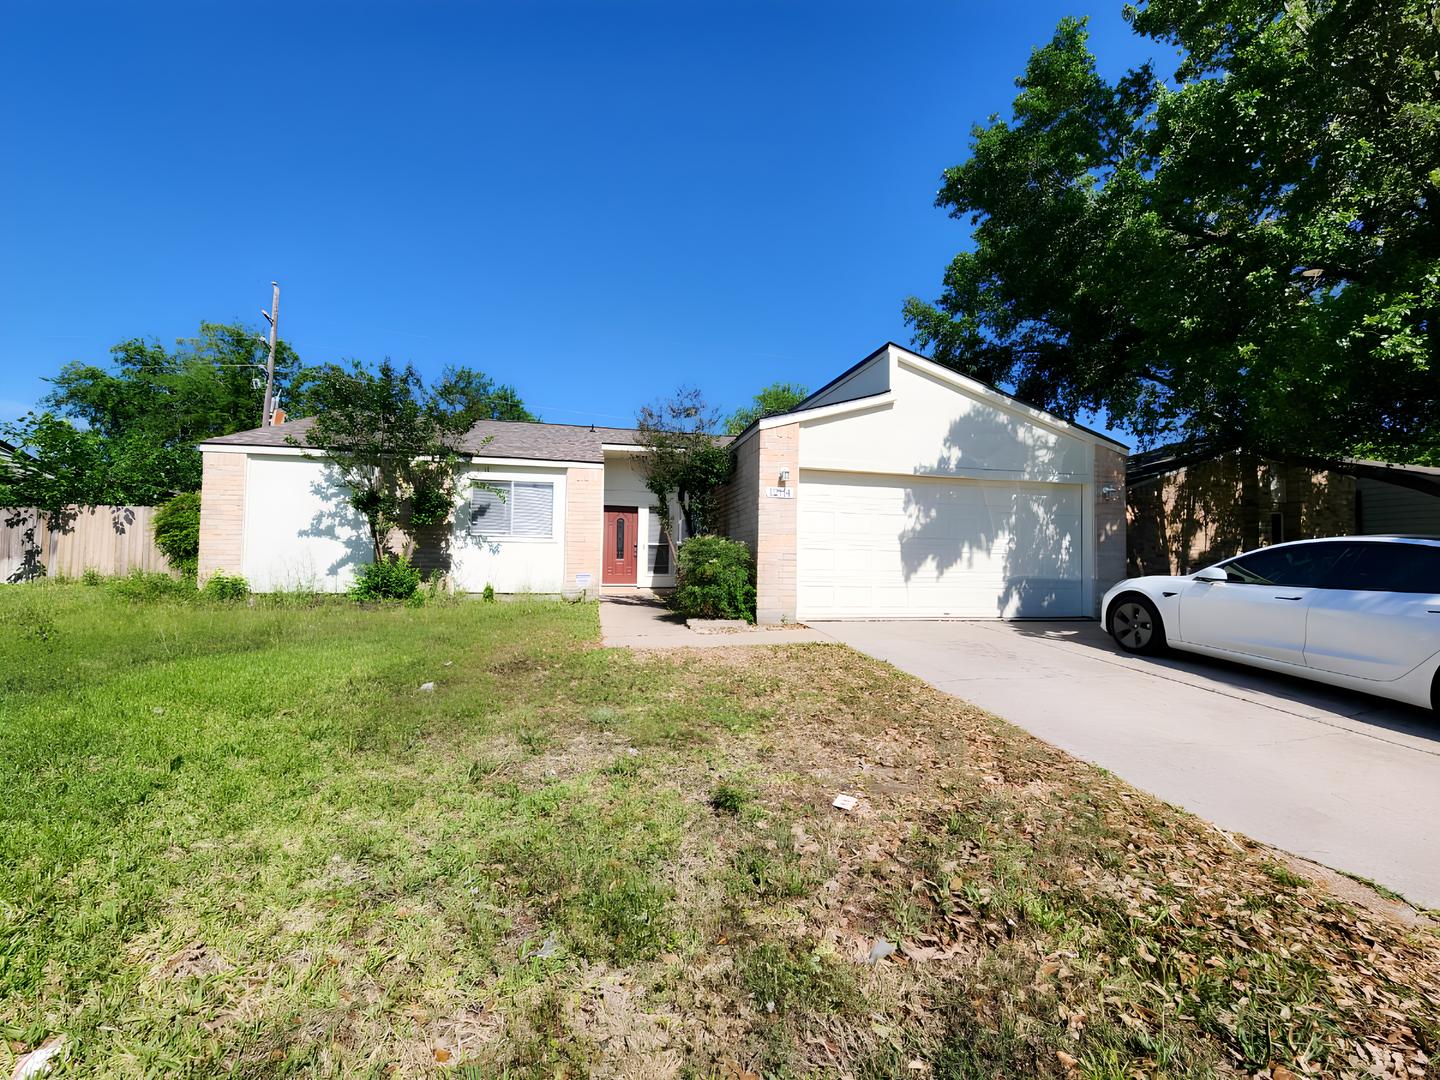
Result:
{"label": "pale concrete driveway leading up to the garage door", "polygon": [[1440,907],[1440,719],[1093,622],[819,622],[1224,829]]}

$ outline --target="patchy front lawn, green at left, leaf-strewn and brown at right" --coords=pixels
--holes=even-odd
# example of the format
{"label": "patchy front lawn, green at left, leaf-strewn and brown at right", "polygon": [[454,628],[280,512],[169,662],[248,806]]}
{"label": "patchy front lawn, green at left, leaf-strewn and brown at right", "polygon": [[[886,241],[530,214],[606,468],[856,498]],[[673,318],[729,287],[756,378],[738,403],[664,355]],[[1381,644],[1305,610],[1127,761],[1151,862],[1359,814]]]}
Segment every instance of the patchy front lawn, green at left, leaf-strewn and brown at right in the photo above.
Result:
{"label": "patchy front lawn, green at left, leaf-strewn and brown at right", "polygon": [[1440,1076],[1433,923],[841,647],[42,583],[0,698],[0,1073]]}

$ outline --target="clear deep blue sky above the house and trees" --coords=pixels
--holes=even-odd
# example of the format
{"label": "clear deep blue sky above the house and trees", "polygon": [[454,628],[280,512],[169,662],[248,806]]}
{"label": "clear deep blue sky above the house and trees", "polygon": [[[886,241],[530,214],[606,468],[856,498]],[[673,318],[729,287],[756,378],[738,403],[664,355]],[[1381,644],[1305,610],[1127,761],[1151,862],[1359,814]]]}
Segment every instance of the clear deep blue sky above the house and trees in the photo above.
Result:
{"label": "clear deep blue sky above the house and trees", "polygon": [[0,419],[200,320],[464,363],[556,422],[816,387],[933,297],[1030,49],[1120,3],[6,6]]}

